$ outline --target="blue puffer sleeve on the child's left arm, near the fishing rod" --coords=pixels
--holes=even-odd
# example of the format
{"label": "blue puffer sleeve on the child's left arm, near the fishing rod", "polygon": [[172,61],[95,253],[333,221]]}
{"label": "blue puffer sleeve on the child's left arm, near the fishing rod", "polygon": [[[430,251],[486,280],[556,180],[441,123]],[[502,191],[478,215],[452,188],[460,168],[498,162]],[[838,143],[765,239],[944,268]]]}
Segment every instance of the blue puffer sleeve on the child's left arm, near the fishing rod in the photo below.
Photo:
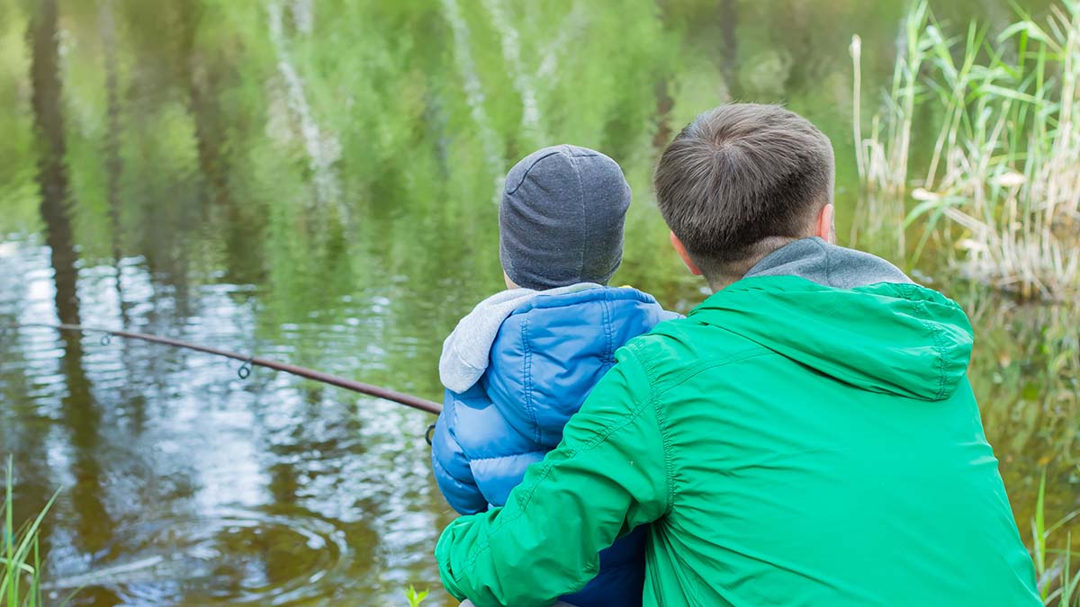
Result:
{"label": "blue puffer sleeve on the child's left arm, near the fishing rod", "polygon": [[487,510],[487,499],[476,485],[464,449],[454,436],[457,399],[457,394],[446,391],[443,413],[435,421],[431,437],[431,466],[438,489],[450,508],[460,514],[473,514]]}

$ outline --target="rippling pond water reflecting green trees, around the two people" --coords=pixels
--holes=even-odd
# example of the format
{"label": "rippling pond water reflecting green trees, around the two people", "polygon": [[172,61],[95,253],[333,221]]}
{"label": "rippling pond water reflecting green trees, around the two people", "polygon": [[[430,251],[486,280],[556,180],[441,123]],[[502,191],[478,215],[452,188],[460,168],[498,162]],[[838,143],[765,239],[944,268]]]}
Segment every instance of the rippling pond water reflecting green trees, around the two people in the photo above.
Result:
{"label": "rippling pond water reflecting green trees, around the two people", "polygon": [[[625,167],[615,282],[680,311],[703,297],[649,168],[731,98],[820,124],[851,216],[847,49],[862,35],[873,106],[904,2],[618,4],[0,0],[0,454],[23,516],[64,487],[42,537],[56,596],[404,605],[409,583],[438,588],[429,555],[451,513],[424,414],[21,323],[125,327],[437,397],[443,337],[500,288],[498,179],[541,145]],[[935,10],[1011,16],[991,0]],[[1048,517],[1080,507],[1075,324],[945,275],[922,274],[972,311],[972,379],[1028,538],[1043,466]]]}

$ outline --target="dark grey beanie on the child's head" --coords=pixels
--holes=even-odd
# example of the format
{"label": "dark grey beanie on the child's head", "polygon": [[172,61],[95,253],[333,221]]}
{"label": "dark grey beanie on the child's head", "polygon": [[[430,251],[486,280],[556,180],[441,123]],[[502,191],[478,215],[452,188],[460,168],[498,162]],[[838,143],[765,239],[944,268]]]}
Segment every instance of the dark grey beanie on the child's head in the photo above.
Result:
{"label": "dark grey beanie on the child's head", "polygon": [[607,284],[622,261],[630,185],[619,164],[577,146],[535,151],[507,174],[499,259],[517,286]]}

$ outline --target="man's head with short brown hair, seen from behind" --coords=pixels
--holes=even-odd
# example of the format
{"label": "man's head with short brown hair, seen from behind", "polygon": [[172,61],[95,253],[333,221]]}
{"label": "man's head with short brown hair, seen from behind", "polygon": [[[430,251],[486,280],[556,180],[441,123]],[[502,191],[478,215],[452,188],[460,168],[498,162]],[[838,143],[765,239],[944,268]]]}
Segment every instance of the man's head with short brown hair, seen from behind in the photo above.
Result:
{"label": "man's head with short brown hair, seen from behind", "polygon": [[653,184],[664,220],[710,279],[812,235],[833,200],[834,164],[828,137],[797,113],[731,104],[675,137]]}

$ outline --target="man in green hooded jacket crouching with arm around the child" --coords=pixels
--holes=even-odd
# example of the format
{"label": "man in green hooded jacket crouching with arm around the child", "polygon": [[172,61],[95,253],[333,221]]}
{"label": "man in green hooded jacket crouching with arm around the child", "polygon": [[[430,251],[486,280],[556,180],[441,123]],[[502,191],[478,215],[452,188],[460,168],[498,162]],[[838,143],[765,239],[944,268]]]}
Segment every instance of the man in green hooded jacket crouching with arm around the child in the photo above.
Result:
{"label": "man in green hooded jacket crouching with arm around the child", "polygon": [[647,606],[1037,606],[966,370],[960,308],[836,246],[828,139],[773,106],[664,151],[672,244],[716,292],[617,364],[507,505],[451,523],[480,607],[582,588],[648,527]]}

